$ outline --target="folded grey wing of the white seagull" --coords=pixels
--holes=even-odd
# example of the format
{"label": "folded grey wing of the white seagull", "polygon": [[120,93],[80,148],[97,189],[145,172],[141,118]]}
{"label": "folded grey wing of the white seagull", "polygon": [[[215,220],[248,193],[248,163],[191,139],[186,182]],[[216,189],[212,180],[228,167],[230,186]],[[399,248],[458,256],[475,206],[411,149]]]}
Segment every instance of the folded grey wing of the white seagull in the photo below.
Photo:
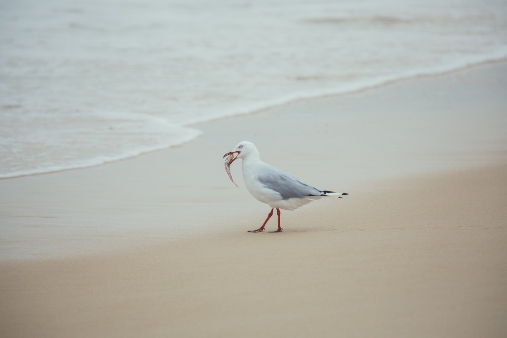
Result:
{"label": "folded grey wing of the white seagull", "polygon": [[322,191],[316,187],[303,183],[293,175],[271,166],[257,178],[266,187],[278,192],[284,200],[322,195]]}

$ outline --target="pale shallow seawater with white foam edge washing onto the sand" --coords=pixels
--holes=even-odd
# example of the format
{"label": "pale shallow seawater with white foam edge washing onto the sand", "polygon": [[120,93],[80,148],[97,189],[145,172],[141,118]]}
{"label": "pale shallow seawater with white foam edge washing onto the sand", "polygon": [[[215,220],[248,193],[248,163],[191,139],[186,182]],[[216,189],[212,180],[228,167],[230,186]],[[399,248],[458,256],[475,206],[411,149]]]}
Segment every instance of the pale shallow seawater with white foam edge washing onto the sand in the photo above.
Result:
{"label": "pale shallow seawater with white foam edge washing onto the sand", "polygon": [[0,4],[0,178],[190,141],[193,123],[507,56],[507,3]]}

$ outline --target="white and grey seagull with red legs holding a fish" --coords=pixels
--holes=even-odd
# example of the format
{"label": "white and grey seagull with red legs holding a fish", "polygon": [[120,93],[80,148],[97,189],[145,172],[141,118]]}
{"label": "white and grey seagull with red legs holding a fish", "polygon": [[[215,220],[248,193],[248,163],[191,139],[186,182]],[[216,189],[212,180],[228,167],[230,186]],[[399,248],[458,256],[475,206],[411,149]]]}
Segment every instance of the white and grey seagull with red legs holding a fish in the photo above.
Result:
{"label": "white and grey seagull with red legs holding a fish", "polygon": [[322,197],[335,196],[341,198],[344,195],[348,195],[347,193],[335,193],[317,189],[303,183],[289,173],[262,162],[260,153],[252,142],[239,142],[231,152],[224,155],[224,158],[226,156],[225,167],[231,180],[232,176],[229,169],[231,163],[237,159],[242,159],[241,169],[246,189],[248,189],[248,192],[253,197],[271,207],[271,211],[261,228],[249,230],[249,233],[260,233],[263,231],[266,223],[273,215],[274,209],[276,209],[276,214],[278,215],[278,229],[270,231],[270,233],[279,233],[283,230],[280,227],[280,209],[295,210]]}

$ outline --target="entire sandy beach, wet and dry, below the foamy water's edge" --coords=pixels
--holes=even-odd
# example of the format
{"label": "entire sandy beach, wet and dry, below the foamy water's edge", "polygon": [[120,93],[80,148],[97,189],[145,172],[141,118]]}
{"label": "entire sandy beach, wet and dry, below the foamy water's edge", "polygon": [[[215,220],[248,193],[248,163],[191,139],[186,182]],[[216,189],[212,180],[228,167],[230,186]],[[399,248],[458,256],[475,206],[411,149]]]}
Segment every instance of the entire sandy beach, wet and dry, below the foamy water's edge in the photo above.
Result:
{"label": "entire sandy beach, wet and dry, below the foamy water's edge", "polygon": [[[181,147],[0,180],[0,335],[506,336],[505,74],[294,102],[196,125]],[[225,173],[243,139],[350,195],[247,233],[269,208],[239,164],[239,189]]]}

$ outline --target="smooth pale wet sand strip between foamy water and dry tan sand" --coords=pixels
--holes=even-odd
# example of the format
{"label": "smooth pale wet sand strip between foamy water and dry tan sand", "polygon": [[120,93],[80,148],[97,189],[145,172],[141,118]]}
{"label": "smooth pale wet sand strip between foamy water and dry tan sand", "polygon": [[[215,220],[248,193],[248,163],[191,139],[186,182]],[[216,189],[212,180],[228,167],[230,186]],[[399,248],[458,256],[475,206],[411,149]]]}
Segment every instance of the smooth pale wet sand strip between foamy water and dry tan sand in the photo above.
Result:
{"label": "smooth pale wet sand strip between foamy water and dry tan sand", "polygon": [[[221,159],[245,138],[267,163],[352,196],[393,178],[504,162],[507,123],[497,102],[504,69],[507,62],[294,102],[199,125],[203,135],[182,147],[0,180],[0,191],[9,192],[0,197],[2,261],[101,254],[228,231],[231,210],[257,219],[265,206],[246,192],[237,164],[231,171],[240,189],[232,185]],[[276,146],[270,135],[277,135]]]}

